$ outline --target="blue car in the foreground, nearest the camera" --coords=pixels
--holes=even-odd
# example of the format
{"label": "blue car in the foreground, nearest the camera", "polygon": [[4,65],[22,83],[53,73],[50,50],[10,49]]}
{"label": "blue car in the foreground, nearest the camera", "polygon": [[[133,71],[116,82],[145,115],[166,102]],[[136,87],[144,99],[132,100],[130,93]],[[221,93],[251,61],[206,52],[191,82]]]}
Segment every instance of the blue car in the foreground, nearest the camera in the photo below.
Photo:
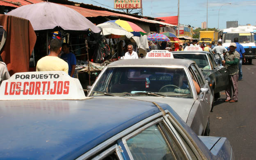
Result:
{"label": "blue car in the foreground, nearest the camera", "polygon": [[122,97],[0,101],[0,160],[233,160],[162,103]]}

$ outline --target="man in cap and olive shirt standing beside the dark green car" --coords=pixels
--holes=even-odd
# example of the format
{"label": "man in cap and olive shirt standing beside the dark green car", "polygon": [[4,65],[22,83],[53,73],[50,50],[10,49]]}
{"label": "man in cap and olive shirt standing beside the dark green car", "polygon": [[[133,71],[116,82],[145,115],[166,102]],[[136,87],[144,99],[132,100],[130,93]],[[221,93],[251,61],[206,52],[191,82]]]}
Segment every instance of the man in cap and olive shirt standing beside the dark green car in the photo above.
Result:
{"label": "man in cap and olive shirt standing beside the dark green car", "polygon": [[[222,61],[229,73],[229,86],[225,90],[226,92],[225,102],[238,101],[238,66],[239,66],[240,54],[235,49],[236,49],[236,44],[230,43],[229,51],[226,53],[225,60]],[[232,96],[231,89],[233,89],[233,96]]]}

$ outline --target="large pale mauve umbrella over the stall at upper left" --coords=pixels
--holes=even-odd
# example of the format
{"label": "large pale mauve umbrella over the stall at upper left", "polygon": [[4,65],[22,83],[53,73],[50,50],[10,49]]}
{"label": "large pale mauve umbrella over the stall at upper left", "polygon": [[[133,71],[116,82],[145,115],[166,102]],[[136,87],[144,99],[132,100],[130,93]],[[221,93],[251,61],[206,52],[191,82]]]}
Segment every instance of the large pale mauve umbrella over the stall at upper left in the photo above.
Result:
{"label": "large pale mauve umbrella over the stall at upper left", "polygon": [[101,32],[100,28],[74,9],[51,2],[21,6],[10,11],[7,15],[28,19],[34,30],[60,27],[63,30],[86,31],[91,29],[94,33]]}

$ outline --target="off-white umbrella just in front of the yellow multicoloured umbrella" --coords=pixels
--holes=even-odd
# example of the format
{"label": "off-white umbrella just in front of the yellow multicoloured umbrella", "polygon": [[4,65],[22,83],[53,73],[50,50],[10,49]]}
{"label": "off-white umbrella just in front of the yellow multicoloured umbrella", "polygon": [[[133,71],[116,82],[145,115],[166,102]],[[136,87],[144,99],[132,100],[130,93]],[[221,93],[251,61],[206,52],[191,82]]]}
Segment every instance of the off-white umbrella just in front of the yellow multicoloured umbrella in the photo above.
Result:
{"label": "off-white umbrella just in front of the yellow multicoloured umbrella", "polygon": [[122,27],[114,25],[113,23],[101,23],[98,24],[97,27],[100,27],[102,29],[102,33],[104,36],[114,34],[119,36],[126,36],[128,39],[133,37],[133,34],[131,32],[128,32]]}

